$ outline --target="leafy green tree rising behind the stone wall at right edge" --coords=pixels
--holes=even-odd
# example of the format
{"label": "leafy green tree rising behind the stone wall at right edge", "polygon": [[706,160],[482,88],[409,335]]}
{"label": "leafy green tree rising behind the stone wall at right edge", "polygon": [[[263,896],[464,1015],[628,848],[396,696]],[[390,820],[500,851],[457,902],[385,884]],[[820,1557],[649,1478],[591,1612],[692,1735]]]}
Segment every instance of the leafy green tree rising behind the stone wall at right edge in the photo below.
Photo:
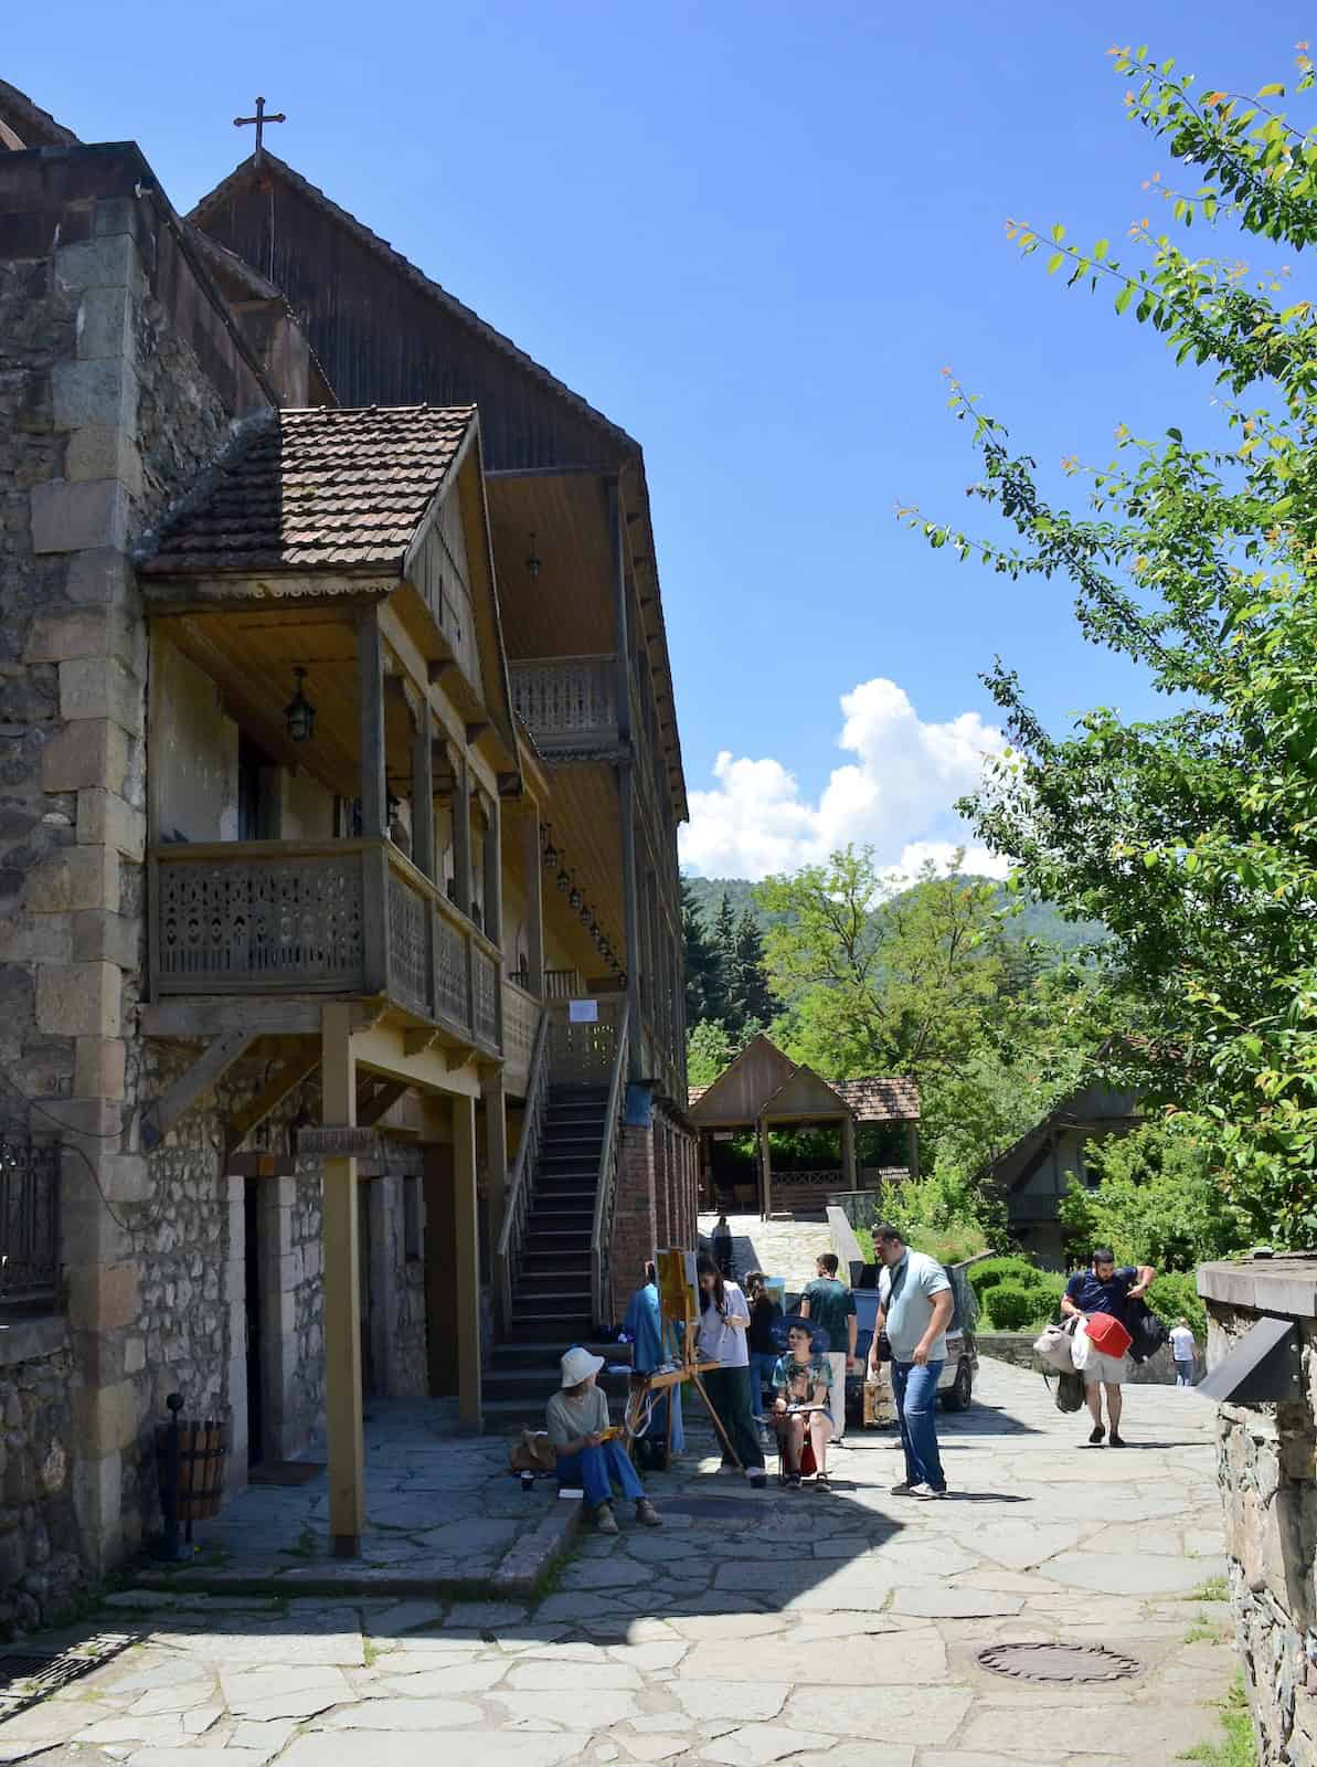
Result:
{"label": "leafy green tree rising behind the stone wall at right edge", "polygon": [[[1116,986],[1155,1037],[1114,1044],[1112,1078],[1178,1103],[1250,1232],[1317,1233],[1317,307],[1289,286],[1317,240],[1317,131],[1257,99],[1199,90],[1172,62],[1116,51],[1130,113],[1176,163],[1169,228],[1229,226],[1266,242],[1248,269],[1188,239],[1135,228],[1132,262],[1012,224],[1072,286],[1114,295],[1178,362],[1209,366],[1220,396],[1202,442],[1118,431],[1089,511],[1057,509],[1035,465],[959,387],[982,456],[976,495],[1019,546],[922,521],[1010,576],[1065,576],[1084,634],[1140,664],[1169,716],[1096,709],[1070,737],[1029,710],[1019,680],[987,677],[1012,753],[967,813],[1038,894],[1112,937]],[[1298,90],[1313,71],[1306,55]],[[1188,170],[1192,168],[1192,170]],[[1185,189],[1170,187],[1188,171]],[[1070,461],[1072,474],[1079,463]]]}

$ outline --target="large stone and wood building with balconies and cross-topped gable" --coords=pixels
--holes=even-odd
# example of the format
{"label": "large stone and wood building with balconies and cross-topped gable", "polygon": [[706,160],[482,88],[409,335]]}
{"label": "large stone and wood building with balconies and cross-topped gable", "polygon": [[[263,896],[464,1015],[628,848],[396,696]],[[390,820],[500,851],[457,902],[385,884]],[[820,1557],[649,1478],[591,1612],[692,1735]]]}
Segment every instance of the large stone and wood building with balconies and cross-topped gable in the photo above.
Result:
{"label": "large stone and wood building with balconies and cross-topped gable", "polygon": [[639,449],[318,198],[381,277],[330,320],[346,247],[244,231],[300,184],[184,219],[0,83],[18,1619],[157,1525],[168,1392],[230,1490],[325,1426],[351,1551],[364,1392],[480,1428],[694,1239]]}

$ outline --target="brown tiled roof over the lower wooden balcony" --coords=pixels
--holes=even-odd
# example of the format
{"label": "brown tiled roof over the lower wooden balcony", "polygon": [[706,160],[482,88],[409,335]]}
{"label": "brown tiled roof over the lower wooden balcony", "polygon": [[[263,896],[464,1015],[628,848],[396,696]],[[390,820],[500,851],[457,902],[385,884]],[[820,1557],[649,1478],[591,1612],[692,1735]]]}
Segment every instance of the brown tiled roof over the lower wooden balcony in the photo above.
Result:
{"label": "brown tiled roof over the lower wooden balcony", "polygon": [[150,576],[394,571],[475,406],[267,412],[148,535]]}

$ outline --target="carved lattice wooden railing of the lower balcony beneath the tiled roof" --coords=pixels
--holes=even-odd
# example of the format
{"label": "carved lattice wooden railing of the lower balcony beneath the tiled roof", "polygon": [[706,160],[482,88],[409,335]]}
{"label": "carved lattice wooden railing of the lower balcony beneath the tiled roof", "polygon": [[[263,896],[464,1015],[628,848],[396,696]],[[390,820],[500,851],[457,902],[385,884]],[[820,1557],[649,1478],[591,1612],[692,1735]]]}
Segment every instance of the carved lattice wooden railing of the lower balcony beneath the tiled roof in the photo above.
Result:
{"label": "carved lattice wooden railing of the lower balcony beneath the tiled roof", "polygon": [[385,998],[501,1051],[498,947],[392,841],[155,846],[148,924],[154,998]]}

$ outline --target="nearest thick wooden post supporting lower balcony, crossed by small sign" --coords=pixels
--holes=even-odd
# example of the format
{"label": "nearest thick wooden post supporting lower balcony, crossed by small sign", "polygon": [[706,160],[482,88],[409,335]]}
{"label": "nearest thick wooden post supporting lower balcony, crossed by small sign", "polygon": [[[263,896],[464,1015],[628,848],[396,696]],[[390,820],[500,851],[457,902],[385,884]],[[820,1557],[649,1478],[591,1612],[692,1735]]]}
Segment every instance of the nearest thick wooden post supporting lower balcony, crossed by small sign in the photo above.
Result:
{"label": "nearest thick wooden post supporting lower balcony, crossed by small sign", "polygon": [[[321,1011],[323,1122],[357,1122],[351,1007]],[[325,1417],[328,1435],[330,1550],[355,1558],[365,1523],[362,1431],[362,1302],[357,1240],[357,1161],[325,1161]]]}

